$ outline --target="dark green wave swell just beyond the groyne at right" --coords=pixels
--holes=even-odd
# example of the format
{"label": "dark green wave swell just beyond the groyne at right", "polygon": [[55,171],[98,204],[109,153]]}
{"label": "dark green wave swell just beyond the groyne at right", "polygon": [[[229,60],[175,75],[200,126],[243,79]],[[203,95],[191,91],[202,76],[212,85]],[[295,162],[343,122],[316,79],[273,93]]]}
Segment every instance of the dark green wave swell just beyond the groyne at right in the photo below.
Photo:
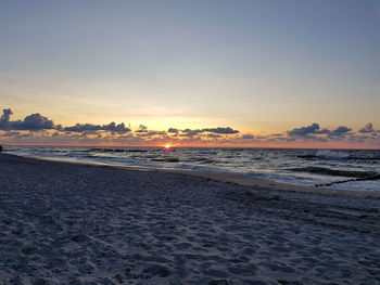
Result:
{"label": "dark green wave swell just beyond the groyne at right", "polygon": [[377,176],[375,171],[354,171],[354,170],[339,170],[325,167],[297,167],[287,169],[296,172],[308,172],[315,174],[333,176],[333,177],[351,177],[351,178],[368,178]]}

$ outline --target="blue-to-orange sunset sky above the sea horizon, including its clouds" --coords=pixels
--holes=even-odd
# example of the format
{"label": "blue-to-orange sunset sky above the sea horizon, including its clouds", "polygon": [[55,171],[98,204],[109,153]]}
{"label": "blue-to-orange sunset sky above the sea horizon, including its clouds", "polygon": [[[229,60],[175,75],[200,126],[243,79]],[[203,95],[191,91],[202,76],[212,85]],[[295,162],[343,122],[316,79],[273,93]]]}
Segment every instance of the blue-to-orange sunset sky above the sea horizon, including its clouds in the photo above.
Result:
{"label": "blue-to-orange sunset sky above the sea horizon, including its clouds", "polygon": [[380,0],[0,0],[0,143],[380,148],[379,31]]}

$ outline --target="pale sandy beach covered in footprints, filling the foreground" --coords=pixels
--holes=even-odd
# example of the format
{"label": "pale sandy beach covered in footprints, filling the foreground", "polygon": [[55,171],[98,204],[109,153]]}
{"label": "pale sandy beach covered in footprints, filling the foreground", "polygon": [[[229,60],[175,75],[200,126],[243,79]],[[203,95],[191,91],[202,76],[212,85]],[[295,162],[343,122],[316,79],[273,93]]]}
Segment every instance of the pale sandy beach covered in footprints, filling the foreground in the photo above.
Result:
{"label": "pale sandy beach covered in footprints, filling the foreground", "polygon": [[376,193],[202,176],[1,154],[0,284],[380,284]]}

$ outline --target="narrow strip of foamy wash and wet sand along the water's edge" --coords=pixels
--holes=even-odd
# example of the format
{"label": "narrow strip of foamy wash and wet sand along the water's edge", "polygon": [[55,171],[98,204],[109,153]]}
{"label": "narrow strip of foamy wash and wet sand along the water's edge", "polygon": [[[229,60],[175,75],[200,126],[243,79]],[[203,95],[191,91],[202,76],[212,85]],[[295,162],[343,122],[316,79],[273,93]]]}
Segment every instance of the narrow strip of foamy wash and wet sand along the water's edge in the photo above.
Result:
{"label": "narrow strip of foamy wash and wet sand along the water's edge", "polygon": [[144,168],[139,166],[136,166],[136,167],[135,166],[116,166],[116,165],[109,165],[109,164],[97,163],[97,161],[93,161],[93,163],[80,161],[80,160],[68,161],[68,160],[53,158],[53,157],[43,158],[43,157],[26,157],[26,156],[20,156],[14,154],[4,154],[4,155],[11,155],[11,156],[27,158],[27,159],[52,161],[58,164],[79,164],[79,165],[86,165],[86,166],[111,167],[116,169],[126,169],[126,170],[135,170],[135,171],[155,171],[155,172],[185,174],[185,176],[203,178],[203,179],[208,179],[208,180],[218,181],[218,182],[235,183],[242,186],[259,187],[265,190],[380,199],[380,191],[341,190],[341,189],[327,189],[321,186],[315,187],[315,186],[278,182],[278,181],[263,179],[263,178],[248,177],[240,173],[217,173],[217,172],[182,170],[182,169],[163,169],[163,168],[148,168],[148,167]]}

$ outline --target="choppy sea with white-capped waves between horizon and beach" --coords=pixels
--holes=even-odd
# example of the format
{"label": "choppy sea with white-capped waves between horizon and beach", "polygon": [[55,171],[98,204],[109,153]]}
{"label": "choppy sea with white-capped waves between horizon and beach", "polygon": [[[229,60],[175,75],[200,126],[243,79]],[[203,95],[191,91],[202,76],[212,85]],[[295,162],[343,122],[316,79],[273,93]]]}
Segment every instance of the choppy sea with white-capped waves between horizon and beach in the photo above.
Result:
{"label": "choppy sea with white-capped waves between horizon and beach", "polygon": [[[233,172],[302,185],[380,191],[380,150],[12,146],[28,157],[144,168]],[[341,183],[337,183],[341,182]]]}

